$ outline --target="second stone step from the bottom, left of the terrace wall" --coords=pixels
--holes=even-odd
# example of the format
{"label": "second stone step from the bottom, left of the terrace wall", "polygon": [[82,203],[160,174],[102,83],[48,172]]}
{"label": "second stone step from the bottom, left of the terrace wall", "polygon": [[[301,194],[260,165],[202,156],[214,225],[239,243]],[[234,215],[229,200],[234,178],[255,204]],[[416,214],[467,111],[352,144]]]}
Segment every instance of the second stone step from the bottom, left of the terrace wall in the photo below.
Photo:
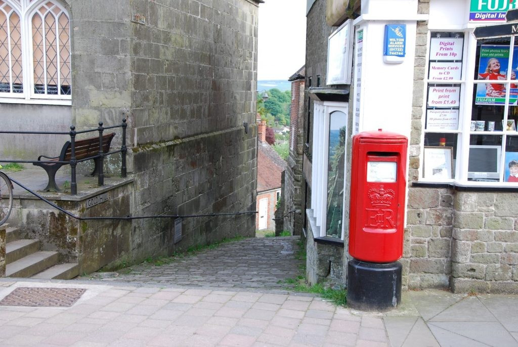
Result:
{"label": "second stone step from the bottom, left of the terrace wall", "polygon": [[6,277],[31,277],[46,268],[57,264],[59,253],[40,251],[27,255],[14,263],[7,264],[5,269]]}

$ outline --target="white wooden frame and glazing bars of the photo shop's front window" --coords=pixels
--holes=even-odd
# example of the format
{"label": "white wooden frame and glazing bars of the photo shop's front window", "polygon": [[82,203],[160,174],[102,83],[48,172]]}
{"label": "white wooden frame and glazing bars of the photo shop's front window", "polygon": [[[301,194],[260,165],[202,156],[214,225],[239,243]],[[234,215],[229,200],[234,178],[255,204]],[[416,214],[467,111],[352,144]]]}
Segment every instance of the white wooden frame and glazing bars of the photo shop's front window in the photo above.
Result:
{"label": "white wooden frame and glazing bars of the photo shop's front window", "polygon": [[[438,82],[434,80],[428,79],[428,70],[429,70],[429,52],[430,52],[430,38],[431,33],[435,32],[458,32],[464,34],[464,47],[463,47],[463,64],[462,64],[462,79],[461,80],[453,80],[449,82]],[[518,187],[518,183],[513,182],[504,182],[505,180],[505,144],[508,135],[518,136],[518,132],[505,132],[505,131],[470,131],[471,125],[471,112],[472,112],[472,103],[473,103],[473,88],[478,83],[486,83],[485,80],[474,80],[473,74],[476,66],[476,52],[477,52],[477,38],[472,34],[473,28],[465,28],[459,30],[452,30],[452,28],[429,28],[428,37],[427,37],[427,53],[426,53],[426,63],[425,63],[425,88],[423,92],[423,117],[422,117],[422,129],[421,132],[421,151],[420,151],[420,168],[419,168],[419,182],[424,183],[449,183],[458,186],[473,186],[473,187]],[[512,62],[512,53],[513,53],[513,37],[511,36],[511,50],[509,60]],[[505,81],[502,82],[511,83],[509,77],[506,78]],[[461,86],[461,93],[459,97],[459,125],[457,130],[442,130],[442,131],[427,131],[425,129],[426,122],[426,109],[427,109],[427,90],[428,83],[430,84],[455,84]],[[509,91],[509,88],[506,88]],[[506,94],[506,100],[509,99],[509,92]],[[505,108],[503,119],[507,120],[509,107]],[[452,167],[452,172],[454,172],[454,178],[452,179],[440,179],[433,180],[429,178],[423,178],[423,167],[424,167],[424,140],[426,133],[440,133],[440,134],[457,134],[457,148],[456,148],[456,163]],[[500,182],[478,182],[478,181],[468,181],[468,156],[469,156],[469,148],[470,148],[470,135],[495,135],[502,136],[502,151],[500,157]]]}

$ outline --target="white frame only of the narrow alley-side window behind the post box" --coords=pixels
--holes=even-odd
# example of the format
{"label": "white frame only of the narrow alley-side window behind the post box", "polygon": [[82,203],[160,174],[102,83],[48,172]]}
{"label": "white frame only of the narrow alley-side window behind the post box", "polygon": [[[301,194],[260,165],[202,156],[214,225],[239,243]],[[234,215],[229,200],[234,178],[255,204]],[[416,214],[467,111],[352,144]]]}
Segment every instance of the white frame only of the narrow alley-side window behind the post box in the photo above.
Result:
{"label": "white frame only of the narrow alley-side window behind the post box", "polygon": [[[316,237],[326,236],[327,223],[327,169],[329,156],[329,117],[335,111],[343,112],[346,115],[346,124],[349,126],[349,104],[343,102],[319,102],[313,103],[313,150],[312,150],[312,165],[311,165],[311,210],[313,210],[313,218],[315,219],[315,226],[317,230],[313,230]],[[346,141],[346,156],[347,156],[347,141]],[[347,163],[347,158],[344,160],[344,165]],[[344,182],[346,181],[347,172],[343,170]],[[345,212],[345,194],[343,194],[343,212]],[[344,223],[342,223],[342,230],[340,239],[343,240]],[[338,239],[338,237],[337,237]]]}

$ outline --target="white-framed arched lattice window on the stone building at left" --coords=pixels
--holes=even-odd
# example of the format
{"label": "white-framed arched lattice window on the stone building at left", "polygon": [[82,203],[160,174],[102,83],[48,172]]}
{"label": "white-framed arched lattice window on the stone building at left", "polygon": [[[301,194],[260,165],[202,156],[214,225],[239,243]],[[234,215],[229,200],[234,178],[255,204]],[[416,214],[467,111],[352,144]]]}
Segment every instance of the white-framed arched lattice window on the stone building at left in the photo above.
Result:
{"label": "white-framed arched lattice window on the stone building at left", "polygon": [[70,95],[66,11],[48,0],[0,0],[0,102],[50,99],[60,103]]}

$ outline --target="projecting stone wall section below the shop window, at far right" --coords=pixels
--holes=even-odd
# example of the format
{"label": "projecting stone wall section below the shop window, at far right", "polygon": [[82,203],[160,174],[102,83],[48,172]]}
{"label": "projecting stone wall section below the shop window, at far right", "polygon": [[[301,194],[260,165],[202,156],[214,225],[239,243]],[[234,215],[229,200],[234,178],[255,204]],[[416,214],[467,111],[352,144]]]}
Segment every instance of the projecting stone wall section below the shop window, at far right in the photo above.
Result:
{"label": "projecting stone wall section below the shop window, at far right", "polygon": [[456,192],[452,289],[518,294],[518,197]]}

